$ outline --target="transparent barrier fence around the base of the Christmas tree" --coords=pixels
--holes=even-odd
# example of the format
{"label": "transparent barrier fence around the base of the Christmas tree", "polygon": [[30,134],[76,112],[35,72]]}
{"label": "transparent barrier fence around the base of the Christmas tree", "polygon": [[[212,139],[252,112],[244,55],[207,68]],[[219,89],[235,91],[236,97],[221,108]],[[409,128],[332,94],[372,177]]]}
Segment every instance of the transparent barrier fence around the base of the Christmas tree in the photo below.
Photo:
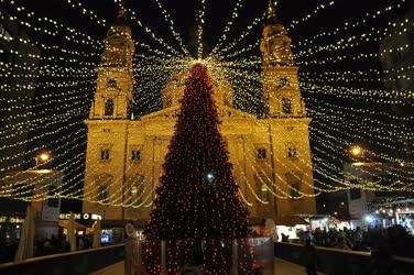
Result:
{"label": "transparent barrier fence around the base of the Christmas tree", "polygon": [[[138,246],[138,249],[134,249]],[[143,250],[142,250],[143,249]],[[273,275],[273,240],[270,238],[127,241],[130,256],[142,255],[139,274]],[[145,273],[146,272],[146,273]]]}

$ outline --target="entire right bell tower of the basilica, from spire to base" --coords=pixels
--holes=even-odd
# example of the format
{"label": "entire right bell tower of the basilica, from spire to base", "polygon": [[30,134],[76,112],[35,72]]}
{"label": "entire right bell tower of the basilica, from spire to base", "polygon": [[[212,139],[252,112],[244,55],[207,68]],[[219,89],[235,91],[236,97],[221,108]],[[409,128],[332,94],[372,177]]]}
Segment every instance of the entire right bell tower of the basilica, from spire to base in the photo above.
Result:
{"label": "entire right bell tower of the basilica, from spire to base", "polygon": [[286,198],[276,198],[276,219],[294,220],[301,213],[315,213],[313,164],[309,144],[310,119],[306,117],[291,50],[291,37],[276,16],[274,0],[260,44],[262,54],[264,120],[269,123],[272,180]]}

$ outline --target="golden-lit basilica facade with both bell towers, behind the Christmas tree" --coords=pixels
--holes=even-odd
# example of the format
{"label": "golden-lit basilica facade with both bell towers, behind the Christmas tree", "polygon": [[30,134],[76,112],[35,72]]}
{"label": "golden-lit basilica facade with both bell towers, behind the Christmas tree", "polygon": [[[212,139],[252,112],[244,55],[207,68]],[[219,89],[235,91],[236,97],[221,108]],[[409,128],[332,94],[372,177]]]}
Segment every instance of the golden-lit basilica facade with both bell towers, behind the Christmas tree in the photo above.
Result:
{"label": "golden-lit basilica facade with both bell towers, behind the Christmas tree", "polygon": [[[105,45],[94,103],[85,121],[84,212],[105,215],[107,221],[148,220],[188,72],[177,73],[165,84],[161,110],[134,119],[128,113],[135,81],[131,30],[113,24]],[[265,103],[261,118],[235,109],[230,82],[211,74],[220,132],[251,218],[294,220],[299,213],[316,211],[312,120],[301,97],[291,38],[272,6],[260,51]]]}

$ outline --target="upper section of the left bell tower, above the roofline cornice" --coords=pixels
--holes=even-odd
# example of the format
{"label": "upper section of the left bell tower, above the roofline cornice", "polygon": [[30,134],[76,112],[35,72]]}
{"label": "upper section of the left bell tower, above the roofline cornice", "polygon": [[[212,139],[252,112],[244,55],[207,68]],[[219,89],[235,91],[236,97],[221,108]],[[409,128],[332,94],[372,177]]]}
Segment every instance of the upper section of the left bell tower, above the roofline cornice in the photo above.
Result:
{"label": "upper section of the left bell tower, above the roofline cornice", "polygon": [[97,67],[98,81],[89,119],[128,119],[134,85],[132,55],[134,44],[131,30],[117,22],[107,32],[105,51]]}

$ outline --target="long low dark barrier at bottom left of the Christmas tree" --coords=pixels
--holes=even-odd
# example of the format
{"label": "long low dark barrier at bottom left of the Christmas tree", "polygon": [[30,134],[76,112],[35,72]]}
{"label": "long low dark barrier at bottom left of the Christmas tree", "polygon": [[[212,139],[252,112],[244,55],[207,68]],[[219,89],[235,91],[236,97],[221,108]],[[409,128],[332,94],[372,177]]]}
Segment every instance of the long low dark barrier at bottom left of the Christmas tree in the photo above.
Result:
{"label": "long low dark barrier at bottom left of the Christmas tree", "polygon": [[124,244],[32,257],[0,264],[0,274],[8,275],[85,275],[124,258]]}

